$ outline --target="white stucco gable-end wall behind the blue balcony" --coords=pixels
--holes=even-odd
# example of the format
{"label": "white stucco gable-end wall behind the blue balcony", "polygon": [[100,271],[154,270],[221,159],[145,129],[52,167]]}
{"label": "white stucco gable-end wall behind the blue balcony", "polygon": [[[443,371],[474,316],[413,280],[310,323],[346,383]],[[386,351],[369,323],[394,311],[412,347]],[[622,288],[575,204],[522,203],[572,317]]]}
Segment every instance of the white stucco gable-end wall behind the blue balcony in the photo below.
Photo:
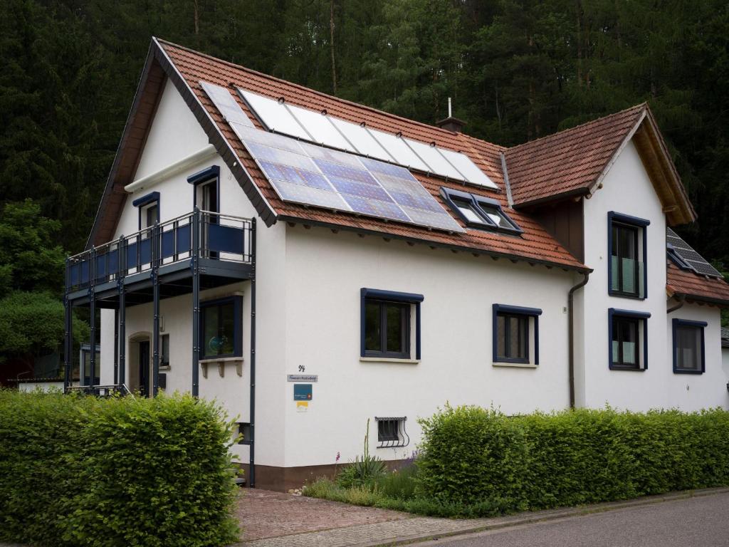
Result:
{"label": "white stucco gable-end wall behind the blue balcony", "polygon": [[[142,154],[135,179],[160,170],[180,160],[208,144],[208,139],[197,120],[184,104],[182,97],[169,82],[165,85],[163,96],[157,108],[155,121],[149,131],[147,144]],[[134,199],[149,192],[160,193],[160,222],[170,220],[192,211],[193,187],[187,177],[198,171],[217,165],[220,168],[220,209],[223,214],[253,218],[257,214],[238,185],[233,174],[222,158],[215,155],[186,171],[169,176],[157,184],[145,187],[128,196],[117,225],[115,237],[130,234],[138,229],[138,211],[133,206]],[[256,430],[257,461],[266,465],[283,465],[284,421],[283,397],[280,386],[273,384],[274,376],[284,374],[285,345],[281,343],[285,335],[284,322],[281,320],[286,292],[285,273],[285,228],[274,225],[266,228],[259,219],[257,230],[257,404],[256,422],[265,424]],[[226,365],[225,377],[218,376],[217,366],[208,367],[208,378],[203,379],[200,372],[200,396],[217,399],[227,409],[230,417],[241,416],[241,421],[249,420],[249,373],[250,373],[250,284],[219,287],[201,292],[201,300],[215,298],[233,291],[243,295],[243,378],[235,373],[235,366]],[[190,390],[192,384],[192,299],[190,295],[168,298],[160,301],[160,314],[164,317],[165,333],[169,333],[171,370],[162,371],[167,375],[167,391]],[[151,333],[152,304],[128,308],[126,317],[127,335],[127,375],[138,364],[131,362],[129,338],[135,333]],[[101,314],[102,383],[113,383],[114,312],[102,311]],[[150,349],[150,351],[152,351]],[[276,371],[280,372],[275,374]],[[247,446],[235,446],[235,453],[241,462],[248,461]]]}

